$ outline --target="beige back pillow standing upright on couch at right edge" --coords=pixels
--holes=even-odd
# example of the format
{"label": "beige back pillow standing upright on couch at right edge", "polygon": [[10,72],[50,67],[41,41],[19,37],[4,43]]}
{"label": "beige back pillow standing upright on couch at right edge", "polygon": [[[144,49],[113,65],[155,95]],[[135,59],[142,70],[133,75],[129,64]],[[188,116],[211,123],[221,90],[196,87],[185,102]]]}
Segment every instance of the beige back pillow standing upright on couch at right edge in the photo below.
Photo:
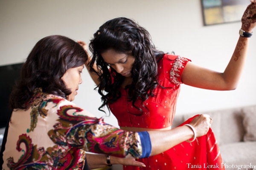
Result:
{"label": "beige back pillow standing upright on couch at right edge", "polygon": [[244,107],[242,111],[244,141],[256,141],[256,106]]}

